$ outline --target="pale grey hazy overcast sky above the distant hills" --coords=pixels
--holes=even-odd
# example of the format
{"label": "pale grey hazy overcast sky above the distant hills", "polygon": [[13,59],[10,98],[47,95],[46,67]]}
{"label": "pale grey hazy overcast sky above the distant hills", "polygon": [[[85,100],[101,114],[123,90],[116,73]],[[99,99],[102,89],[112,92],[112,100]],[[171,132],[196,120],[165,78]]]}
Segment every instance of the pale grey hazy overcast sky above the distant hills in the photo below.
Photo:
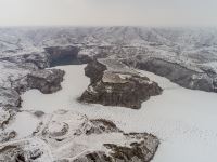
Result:
{"label": "pale grey hazy overcast sky above the distant hills", "polygon": [[0,26],[217,26],[217,0],[0,0]]}

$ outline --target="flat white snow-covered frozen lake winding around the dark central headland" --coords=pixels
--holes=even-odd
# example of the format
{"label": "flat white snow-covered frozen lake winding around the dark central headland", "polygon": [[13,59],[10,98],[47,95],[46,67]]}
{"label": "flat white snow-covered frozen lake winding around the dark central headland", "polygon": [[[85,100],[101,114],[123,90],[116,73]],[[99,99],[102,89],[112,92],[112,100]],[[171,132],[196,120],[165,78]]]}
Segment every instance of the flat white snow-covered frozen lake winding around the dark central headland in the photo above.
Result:
{"label": "flat white snow-covered frozen lake winding around the dark central headland", "polygon": [[[125,132],[153,133],[162,141],[153,162],[217,161],[217,94],[187,90],[165,78],[140,71],[164,87],[162,95],[144,102],[141,109],[79,104],[77,98],[89,84],[84,67],[85,65],[58,67],[66,71],[63,90],[49,95],[37,90],[28,91],[22,96],[22,109],[42,110],[46,113],[69,109],[91,118],[113,120]],[[12,127],[21,133],[18,123],[23,130],[34,129],[38,119],[22,116],[16,118],[17,123]],[[20,136],[26,135],[28,131]]]}

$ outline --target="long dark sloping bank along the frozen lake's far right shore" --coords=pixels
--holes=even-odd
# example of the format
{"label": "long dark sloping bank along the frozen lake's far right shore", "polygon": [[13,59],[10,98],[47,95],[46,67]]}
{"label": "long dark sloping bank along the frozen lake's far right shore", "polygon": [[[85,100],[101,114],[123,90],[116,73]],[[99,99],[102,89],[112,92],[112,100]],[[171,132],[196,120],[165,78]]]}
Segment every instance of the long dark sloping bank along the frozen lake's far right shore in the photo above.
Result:
{"label": "long dark sloping bank along the frozen lake's far right shore", "polygon": [[217,92],[215,76],[207,75],[202,70],[190,69],[177,63],[159,58],[149,58],[136,63],[136,67],[166,77],[170,81],[192,90]]}

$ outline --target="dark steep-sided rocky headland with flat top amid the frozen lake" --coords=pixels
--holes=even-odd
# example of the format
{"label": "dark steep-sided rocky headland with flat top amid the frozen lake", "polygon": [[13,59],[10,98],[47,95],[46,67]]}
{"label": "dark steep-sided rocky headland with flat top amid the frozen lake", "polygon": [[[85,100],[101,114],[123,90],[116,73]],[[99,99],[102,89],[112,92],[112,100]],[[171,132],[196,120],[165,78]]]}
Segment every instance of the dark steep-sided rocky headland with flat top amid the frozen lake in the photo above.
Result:
{"label": "dark steep-sided rocky headland with flat top amid the frozen lake", "polygon": [[113,70],[102,62],[88,64],[85,73],[91,80],[88,90],[80,97],[85,103],[138,109],[150,96],[162,93],[158,84],[149,78],[125,69]]}

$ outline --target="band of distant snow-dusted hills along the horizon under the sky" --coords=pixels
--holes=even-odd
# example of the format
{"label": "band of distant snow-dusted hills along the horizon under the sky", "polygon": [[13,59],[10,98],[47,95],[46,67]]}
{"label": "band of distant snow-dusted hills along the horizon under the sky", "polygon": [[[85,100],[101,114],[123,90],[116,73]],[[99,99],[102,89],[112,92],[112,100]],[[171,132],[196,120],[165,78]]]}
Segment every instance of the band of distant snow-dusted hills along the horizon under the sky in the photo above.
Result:
{"label": "band of distant snow-dusted hills along the horizon under the sky", "polygon": [[[167,46],[195,50],[217,45],[216,28],[41,27],[0,28],[0,41],[22,48],[61,44]],[[4,51],[4,49],[1,49]]]}

